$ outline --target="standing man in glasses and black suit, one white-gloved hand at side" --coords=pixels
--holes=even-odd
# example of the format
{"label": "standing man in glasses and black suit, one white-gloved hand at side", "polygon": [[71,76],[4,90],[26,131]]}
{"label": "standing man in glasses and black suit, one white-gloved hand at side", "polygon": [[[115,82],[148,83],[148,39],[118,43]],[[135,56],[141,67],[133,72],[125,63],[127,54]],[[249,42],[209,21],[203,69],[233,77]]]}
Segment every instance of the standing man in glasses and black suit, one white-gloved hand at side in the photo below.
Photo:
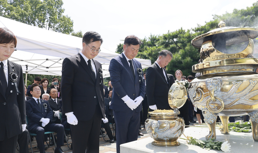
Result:
{"label": "standing man in glasses and black suit, one white-gloved hand at side", "polygon": [[98,33],[88,31],[82,38],[82,51],[63,61],[62,103],[73,133],[73,153],[99,152],[104,90],[101,64],[93,58],[102,42]]}

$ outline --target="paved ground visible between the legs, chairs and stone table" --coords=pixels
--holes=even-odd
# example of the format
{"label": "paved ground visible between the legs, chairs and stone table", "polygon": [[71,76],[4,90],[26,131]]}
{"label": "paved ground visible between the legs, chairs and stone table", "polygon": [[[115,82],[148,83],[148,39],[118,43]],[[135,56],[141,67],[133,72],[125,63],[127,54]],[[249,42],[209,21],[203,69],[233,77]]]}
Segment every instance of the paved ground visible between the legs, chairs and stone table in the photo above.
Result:
{"label": "paved ground visible between the legs, chairs and stone table", "polygon": [[[194,120],[197,120],[196,117],[194,117]],[[237,121],[241,121],[241,118],[238,118],[238,117],[235,117],[235,120],[236,122]],[[197,123],[193,124],[193,123],[190,123],[190,126],[196,126],[198,125],[198,121]],[[141,132],[143,133],[143,136],[138,136],[138,140],[140,139],[144,139],[144,138],[148,138],[149,135],[147,134],[145,128],[143,128],[143,125],[141,125]],[[191,127],[190,127],[191,128]],[[104,129],[104,128],[103,128]],[[111,129],[112,130],[112,129]],[[106,133],[105,133],[106,134]],[[105,140],[109,140],[108,139],[108,136],[105,136]],[[68,140],[68,143],[71,143],[71,137],[69,136],[69,140]],[[115,143],[111,144],[109,141],[106,142],[104,141],[104,139],[102,138],[102,136],[100,135],[100,142],[99,142],[99,153],[115,153],[116,152],[116,141]],[[32,141],[32,147],[33,148],[33,152],[39,152],[39,150],[36,148],[37,146],[37,143],[36,143],[36,139],[34,138],[34,141]],[[69,145],[70,146],[70,145]],[[62,150],[65,152],[65,153],[72,153],[72,150],[70,150],[68,147],[67,147],[67,144],[65,143],[64,146],[61,147]],[[48,148],[46,150],[46,153],[54,153],[54,150],[55,150],[55,146],[52,146],[50,148]],[[30,150],[30,146],[29,146],[29,151],[31,152]],[[19,153],[18,151],[16,151],[17,153]]]}

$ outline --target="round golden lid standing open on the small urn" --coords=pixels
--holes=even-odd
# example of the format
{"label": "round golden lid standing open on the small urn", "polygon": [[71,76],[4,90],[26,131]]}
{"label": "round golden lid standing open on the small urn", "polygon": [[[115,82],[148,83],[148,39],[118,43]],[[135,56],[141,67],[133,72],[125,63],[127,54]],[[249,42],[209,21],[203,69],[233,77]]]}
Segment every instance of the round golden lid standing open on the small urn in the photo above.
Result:
{"label": "round golden lid standing open on the small urn", "polygon": [[187,100],[187,90],[183,84],[174,83],[168,92],[168,104],[172,109],[181,108]]}

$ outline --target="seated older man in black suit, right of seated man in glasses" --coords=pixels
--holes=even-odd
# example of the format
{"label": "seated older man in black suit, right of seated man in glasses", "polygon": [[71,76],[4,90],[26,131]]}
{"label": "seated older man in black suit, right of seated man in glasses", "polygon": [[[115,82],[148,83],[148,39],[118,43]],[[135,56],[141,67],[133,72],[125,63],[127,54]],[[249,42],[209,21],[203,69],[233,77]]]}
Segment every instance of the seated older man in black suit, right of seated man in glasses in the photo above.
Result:
{"label": "seated older man in black suit, right of seated man in glasses", "polygon": [[57,90],[55,88],[51,88],[49,90],[49,95],[51,96],[51,98],[49,98],[48,102],[51,109],[53,110],[52,122],[55,124],[60,124],[61,120],[59,117],[59,113],[61,112],[61,110],[60,110],[59,102],[61,99],[57,98]]}

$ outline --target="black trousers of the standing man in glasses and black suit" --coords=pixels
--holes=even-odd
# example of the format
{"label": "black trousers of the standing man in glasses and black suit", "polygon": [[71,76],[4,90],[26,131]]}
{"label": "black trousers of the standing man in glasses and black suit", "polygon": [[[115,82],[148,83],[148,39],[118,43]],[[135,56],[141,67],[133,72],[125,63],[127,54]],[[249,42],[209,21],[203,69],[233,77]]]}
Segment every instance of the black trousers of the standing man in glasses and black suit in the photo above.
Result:
{"label": "black trousers of the standing man in glasses and black suit", "polygon": [[93,117],[88,121],[78,120],[77,125],[71,125],[73,133],[73,153],[97,153],[99,152],[99,133],[102,113],[96,105]]}

